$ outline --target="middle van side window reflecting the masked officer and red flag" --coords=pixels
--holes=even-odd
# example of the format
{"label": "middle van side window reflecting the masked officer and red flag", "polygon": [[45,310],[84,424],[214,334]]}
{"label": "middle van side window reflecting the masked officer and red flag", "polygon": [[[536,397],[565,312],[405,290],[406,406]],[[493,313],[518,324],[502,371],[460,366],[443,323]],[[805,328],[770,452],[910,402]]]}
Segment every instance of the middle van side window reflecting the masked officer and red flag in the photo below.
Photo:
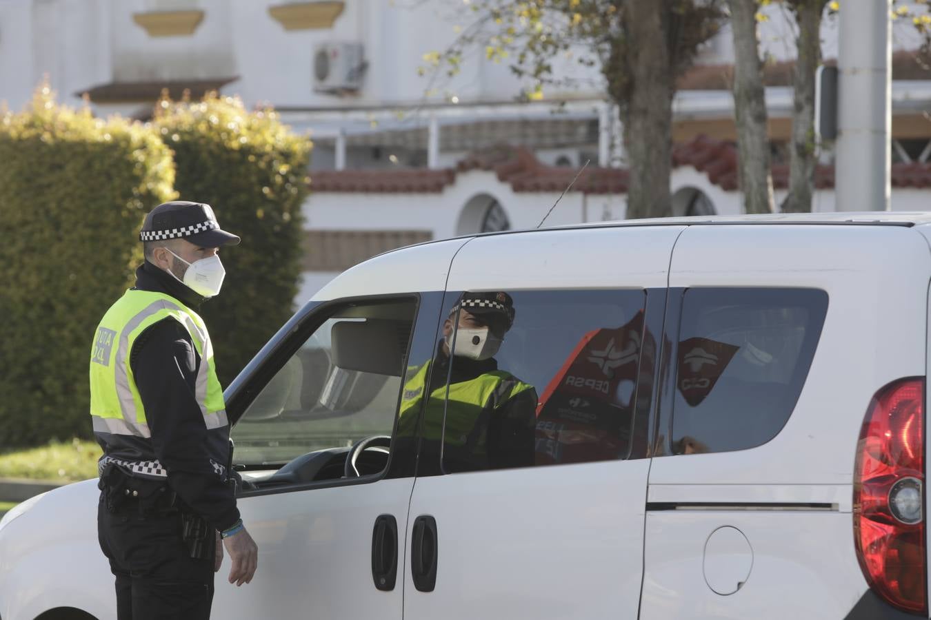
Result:
{"label": "middle van side window reflecting the masked officer and red flag", "polygon": [[443,471],[626,458],[645,299],[642,290],[453,297],[429,385],[404,391],[430,399],[424,440],[441,442]]}

